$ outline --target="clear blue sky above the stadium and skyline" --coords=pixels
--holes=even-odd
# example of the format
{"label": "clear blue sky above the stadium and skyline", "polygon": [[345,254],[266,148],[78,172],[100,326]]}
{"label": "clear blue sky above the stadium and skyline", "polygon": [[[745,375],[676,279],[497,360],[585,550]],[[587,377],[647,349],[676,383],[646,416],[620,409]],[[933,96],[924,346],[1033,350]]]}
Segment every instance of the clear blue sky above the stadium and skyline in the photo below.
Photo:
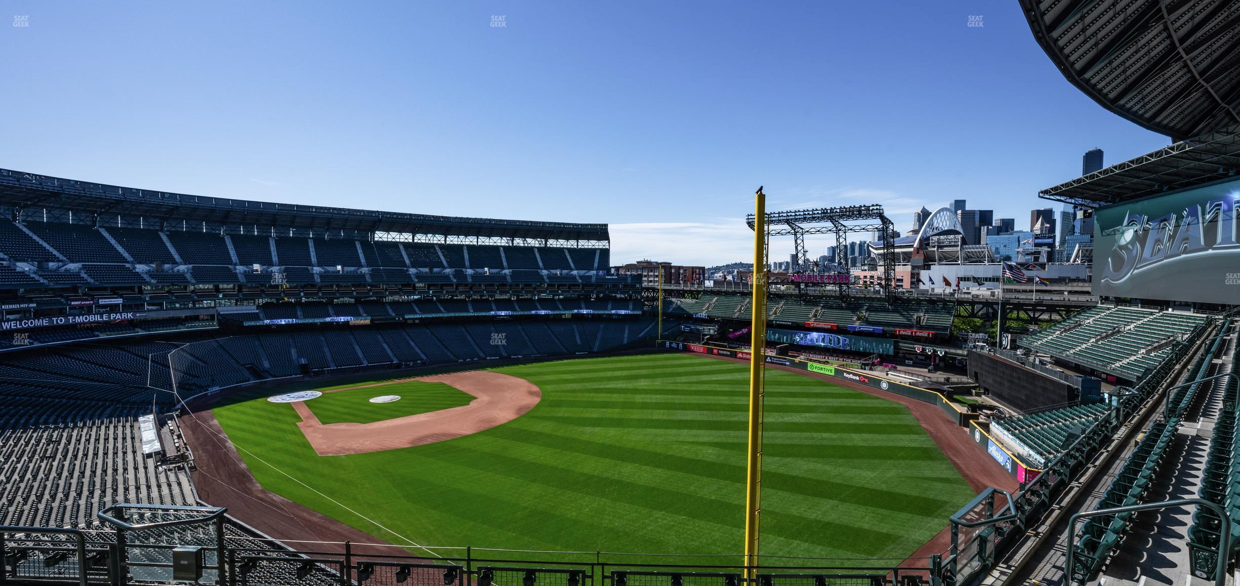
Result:
{"label": "clear blue sky above the stadium and skyline", "polygon": [[1085,150],[1169,142],[1064,81],[1014,0],[5,6],[29,26],[0,24],[0,167],[606,222],[618,263],[750,258],[759,185],[771,209],[883,203],[903,230],[965,198],[1027,228]]}

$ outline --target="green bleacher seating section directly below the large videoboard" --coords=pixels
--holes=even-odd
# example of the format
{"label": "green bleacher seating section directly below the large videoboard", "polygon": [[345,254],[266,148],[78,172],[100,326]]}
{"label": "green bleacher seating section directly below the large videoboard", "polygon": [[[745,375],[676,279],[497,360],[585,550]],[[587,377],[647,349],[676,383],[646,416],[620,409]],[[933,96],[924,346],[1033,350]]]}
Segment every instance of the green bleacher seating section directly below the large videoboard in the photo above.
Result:
{"label": "green bleacher seating section directly below the large videoboard", "polygon": [[1173,343],[1207,317],[1140,307],[1090,307],[1019,344],[1107,374],[1137,380],[1159,364]]}

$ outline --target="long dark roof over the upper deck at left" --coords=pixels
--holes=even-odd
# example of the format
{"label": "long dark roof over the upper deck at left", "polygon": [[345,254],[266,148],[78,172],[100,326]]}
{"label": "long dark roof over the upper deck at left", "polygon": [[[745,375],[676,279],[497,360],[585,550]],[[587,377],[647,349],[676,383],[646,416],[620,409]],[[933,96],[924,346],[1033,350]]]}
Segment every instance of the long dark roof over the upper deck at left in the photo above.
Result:
{"label": "long dark roof over the upper deck at left", "polygon": [[608,224],[460,218],[138,190],[0,168],[0,206],[212,225],[610,242]]}

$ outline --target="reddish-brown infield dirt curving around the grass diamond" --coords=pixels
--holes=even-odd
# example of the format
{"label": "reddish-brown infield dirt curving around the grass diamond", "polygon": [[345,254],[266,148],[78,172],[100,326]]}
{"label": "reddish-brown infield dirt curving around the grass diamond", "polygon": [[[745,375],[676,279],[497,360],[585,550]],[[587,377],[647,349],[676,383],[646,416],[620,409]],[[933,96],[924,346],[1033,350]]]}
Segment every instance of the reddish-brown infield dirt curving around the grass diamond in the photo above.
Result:
{"label": "reddish-brown infield dirt curving around the grass diamond", "polygon": [[[370,424],[321,424],[306,403],[293,403],[293,408],[301,416],[298,427],[301,427],[310,446],[320,456],[381,452],[477,434],[520,418],[542,400],[542,391],[533,383],[489,370],[435,374],[404,380],[444,383],[476,399],[469,405]],[[382,387],[382,384],[361,387]],[[358,387],[350,387],[352,388]]]}

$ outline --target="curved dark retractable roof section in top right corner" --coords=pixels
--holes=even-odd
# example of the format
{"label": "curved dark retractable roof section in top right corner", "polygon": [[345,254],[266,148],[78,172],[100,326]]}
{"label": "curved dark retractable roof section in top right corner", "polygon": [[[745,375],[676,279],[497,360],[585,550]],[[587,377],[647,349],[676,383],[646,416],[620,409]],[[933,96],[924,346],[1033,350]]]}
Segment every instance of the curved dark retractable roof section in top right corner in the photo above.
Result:
{"label": "curved dark retractable roof section in top right corner", "polygon": [[1240,124],[1240,0],[1021,0],[1060,73],[1172,140]]}

